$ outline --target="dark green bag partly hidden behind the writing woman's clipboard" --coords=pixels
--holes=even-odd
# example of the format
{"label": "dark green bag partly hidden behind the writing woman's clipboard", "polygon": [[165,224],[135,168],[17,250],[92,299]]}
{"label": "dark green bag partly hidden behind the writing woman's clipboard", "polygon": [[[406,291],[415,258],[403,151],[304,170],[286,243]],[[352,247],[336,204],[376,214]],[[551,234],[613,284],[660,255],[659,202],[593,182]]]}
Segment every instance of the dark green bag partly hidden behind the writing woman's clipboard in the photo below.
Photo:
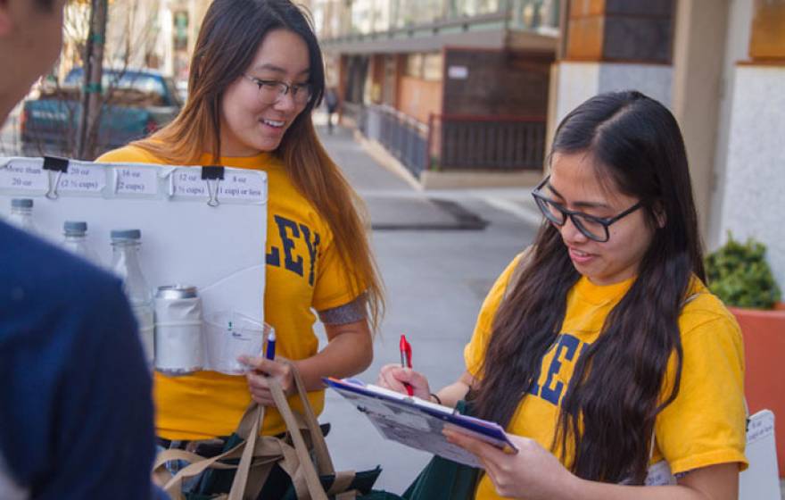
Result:
{"label": "dark green bag partly hidden behind the writing woman's clipboard", "polygon": [[[455,409],[467,414],[467,404],[459,401]],[[405,500],[472,500],[480,469],[434,456],[406,491]]]}

